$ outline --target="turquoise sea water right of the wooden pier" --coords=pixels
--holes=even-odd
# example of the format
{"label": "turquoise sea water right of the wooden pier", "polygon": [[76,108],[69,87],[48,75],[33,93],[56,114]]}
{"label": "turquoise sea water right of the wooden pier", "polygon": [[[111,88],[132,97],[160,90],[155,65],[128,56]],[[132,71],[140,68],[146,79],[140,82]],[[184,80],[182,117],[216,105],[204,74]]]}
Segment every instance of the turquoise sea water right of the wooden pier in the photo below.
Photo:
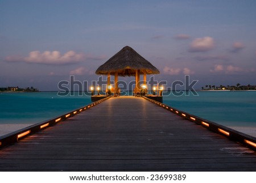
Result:
{"label": "turquoise sea water right of the wooden pier", "polygon": [[163,103],[224,126],[256,127],[256,91],[197,91],[170,95]]}

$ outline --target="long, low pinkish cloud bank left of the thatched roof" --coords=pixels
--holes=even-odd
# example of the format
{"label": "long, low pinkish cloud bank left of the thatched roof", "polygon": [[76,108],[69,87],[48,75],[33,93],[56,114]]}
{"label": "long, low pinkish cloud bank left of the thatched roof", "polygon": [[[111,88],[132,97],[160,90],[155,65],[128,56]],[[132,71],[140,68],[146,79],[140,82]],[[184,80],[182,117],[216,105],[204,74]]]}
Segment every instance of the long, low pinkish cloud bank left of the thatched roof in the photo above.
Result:
{"label": "long, low pinkish cloud bank left of the thatched roof", "polygon": [[68,51],[61,55],[59,51],[32,51],[27,57],[23,56],[7,56],[6,61],[23,61],[26,63],[49,64],[49,65],[64,65],[78,63],[86,59],[102,60],[106,56],[95,57],[92,55],[85,55],[84,53],[76,53],[75,51]]}

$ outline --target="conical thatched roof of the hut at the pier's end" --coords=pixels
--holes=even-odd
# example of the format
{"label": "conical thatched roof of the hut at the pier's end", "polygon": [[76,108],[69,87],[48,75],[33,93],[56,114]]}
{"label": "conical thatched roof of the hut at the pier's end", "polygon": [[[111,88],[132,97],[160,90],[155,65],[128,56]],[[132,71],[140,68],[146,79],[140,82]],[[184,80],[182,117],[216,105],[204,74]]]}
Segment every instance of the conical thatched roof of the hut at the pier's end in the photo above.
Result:
{"label": "conical thatched roof of the hut at the pier's end", "polygon": [[114,75],[115,72],[118,72],[119,76],[135,76],[136,70],[139,70],[139,74],[160,73],[154,65],[135,52],[133,48],[126,46],[101,65],[96,70],[96,74],[110,73]]}

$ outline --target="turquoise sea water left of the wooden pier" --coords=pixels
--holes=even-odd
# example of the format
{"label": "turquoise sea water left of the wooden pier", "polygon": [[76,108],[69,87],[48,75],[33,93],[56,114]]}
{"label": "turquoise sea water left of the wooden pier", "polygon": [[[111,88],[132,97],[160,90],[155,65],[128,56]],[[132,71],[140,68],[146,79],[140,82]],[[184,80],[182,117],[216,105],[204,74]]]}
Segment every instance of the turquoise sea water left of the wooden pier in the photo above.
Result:
{"label": "turquoise sea water left of the wooden pier", "polygon": [[0,93],[0,124],[39,123],[91,103],[88,96],[73,95],[60,97],[56,91]]}

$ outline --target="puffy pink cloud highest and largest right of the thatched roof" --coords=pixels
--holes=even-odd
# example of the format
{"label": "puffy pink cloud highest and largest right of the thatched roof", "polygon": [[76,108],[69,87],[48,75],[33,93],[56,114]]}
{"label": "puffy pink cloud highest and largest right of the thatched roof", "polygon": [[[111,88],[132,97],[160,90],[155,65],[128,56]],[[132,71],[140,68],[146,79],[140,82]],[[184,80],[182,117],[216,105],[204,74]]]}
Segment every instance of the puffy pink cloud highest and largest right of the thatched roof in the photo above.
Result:
{"label": "puffy pink cloud highest and largest right of the thatched roof", "polygon": [[214,48],[214,40],[211,37],[196,38],[192,41],[190,52],[206,52]]}

